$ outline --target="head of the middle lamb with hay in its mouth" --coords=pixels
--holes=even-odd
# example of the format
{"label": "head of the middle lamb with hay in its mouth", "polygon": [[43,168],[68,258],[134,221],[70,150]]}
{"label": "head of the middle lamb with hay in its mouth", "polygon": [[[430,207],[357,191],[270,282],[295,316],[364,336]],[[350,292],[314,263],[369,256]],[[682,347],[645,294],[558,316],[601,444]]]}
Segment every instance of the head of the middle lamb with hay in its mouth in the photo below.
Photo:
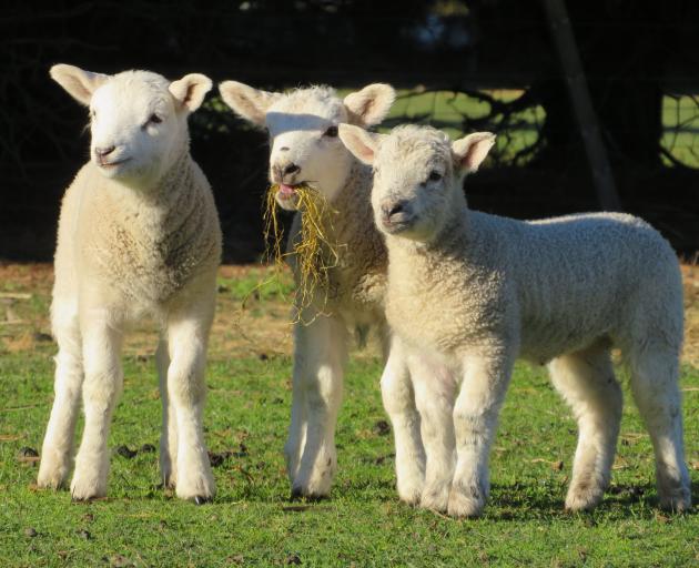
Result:
{"label": "head of the middle lamb with hay in its mouth", "polygon": [[337,125],[363,128],[379,123],[388,113],[395,91],[371,84],[340,99],[333,89],[312,87],[288,93],[253,89],[224,81],[219,91],[233,111],[270,133],[270,181],[278,185],[276,202],[295,210],[295,187],[307,184],[330,202],[344,186],[354,161],[337,138]]}

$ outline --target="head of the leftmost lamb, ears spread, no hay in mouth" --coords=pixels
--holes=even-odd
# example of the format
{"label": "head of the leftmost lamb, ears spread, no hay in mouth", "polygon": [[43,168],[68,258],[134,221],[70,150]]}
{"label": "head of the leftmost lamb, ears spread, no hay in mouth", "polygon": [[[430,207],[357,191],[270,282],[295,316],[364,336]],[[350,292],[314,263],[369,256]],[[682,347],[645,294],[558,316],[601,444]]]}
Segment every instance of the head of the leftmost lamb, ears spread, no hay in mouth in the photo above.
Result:
{"label": "head of the leftmost lamb, ears spread, no hay in mouth", "polygon": [[53,65],[51,77],[90,108],[94,165],[138,187],[152,186],[188,150],[188,115],[212,85],[197,73],[170,82],[149,71],[107,75],[65,64]]}

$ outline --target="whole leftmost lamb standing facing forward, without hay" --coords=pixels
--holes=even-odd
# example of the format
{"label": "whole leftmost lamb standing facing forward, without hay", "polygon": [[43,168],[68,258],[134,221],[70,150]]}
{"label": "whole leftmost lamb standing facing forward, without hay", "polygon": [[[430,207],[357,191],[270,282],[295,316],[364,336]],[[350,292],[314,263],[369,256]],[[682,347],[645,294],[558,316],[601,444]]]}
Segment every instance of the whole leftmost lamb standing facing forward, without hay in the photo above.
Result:
{"label": "whole leftmost lamb standing facing forward, without hay", "polygon": [[128,327],[150,315],[161,326],[164,484],[180,498],[206,501],[215,486],[202,426],[204,366],[221,230],[209,182],[190,155],[188,115],[211,80],[67,64],[52,67],[51,77],[90,108],[92,140],[90,161],[61,205],[51,304],[55,399],[38,484],[67,480],[82,394],[85,425],[70,489],[75,500],[107,494],[120,351]]}

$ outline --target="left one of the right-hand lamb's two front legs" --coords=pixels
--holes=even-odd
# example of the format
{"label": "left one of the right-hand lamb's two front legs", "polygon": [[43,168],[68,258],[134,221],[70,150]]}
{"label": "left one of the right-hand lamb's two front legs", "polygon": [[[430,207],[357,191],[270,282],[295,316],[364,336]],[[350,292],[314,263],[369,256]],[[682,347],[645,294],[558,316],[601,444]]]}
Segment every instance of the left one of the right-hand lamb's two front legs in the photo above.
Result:
{"label": "left one of the right-hand lamb's two front legs", "polygon": [[455,377],[446,367],[419,355],[408,358],[425,447],[425,484],[421,507],[446,511],[455,465],[452,410]]}

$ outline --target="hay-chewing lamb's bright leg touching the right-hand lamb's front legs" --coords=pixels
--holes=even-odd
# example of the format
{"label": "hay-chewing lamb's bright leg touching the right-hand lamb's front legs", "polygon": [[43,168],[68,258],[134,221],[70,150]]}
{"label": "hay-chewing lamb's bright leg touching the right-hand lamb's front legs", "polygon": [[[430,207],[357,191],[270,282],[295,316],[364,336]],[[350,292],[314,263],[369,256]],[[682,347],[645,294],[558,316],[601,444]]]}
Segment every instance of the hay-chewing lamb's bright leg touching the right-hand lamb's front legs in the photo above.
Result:
{"label": "hay-chewing lamb's bright leg touching the right-hand lamb's front legs", "polygon": [[416,505],[425,485],[425,449],[406,354],[397,337],[391,339],[381,394],[393,425],[398,496]]}

